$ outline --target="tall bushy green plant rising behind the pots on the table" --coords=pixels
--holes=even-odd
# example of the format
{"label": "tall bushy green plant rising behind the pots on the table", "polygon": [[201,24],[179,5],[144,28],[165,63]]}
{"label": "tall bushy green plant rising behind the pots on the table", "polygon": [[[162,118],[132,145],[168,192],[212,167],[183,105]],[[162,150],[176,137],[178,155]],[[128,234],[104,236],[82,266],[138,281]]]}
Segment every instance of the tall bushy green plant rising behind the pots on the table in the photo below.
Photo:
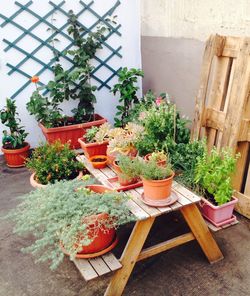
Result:
{"label": "tall bushy green plant rising behind the pots on the table", "polygon": [[162,103],[144,111],[139,118],[145,132],[136,143],[140,155],[146,155],[155,150],[170,153],[175,144],[188,143],[190,130],[186,127],[188,120],[182,118],[176,110],[176,105]]}

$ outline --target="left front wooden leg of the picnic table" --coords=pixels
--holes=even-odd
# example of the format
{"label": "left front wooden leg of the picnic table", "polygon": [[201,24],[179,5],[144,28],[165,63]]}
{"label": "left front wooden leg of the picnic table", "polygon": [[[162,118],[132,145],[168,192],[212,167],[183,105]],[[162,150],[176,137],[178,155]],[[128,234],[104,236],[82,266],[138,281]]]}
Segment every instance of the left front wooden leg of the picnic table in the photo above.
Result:
{"label": "left front wooden leg of the picnic table", "polygon": [[135,266],[155,218],[137,221],[121,256],[122,268],[112,277],[105,296],[120,296]]}

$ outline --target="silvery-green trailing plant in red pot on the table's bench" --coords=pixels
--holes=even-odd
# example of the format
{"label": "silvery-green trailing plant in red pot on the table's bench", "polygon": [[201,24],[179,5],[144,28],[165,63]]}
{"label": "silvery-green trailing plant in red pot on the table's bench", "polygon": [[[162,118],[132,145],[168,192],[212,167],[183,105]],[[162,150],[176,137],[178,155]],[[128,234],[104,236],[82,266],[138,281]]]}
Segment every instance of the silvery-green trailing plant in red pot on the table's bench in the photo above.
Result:
{"label": "silvery-green trailing plant in red pot on the table's bench", "polygon": [[73,260],[114,247],[115,229],[134,219],[126,206],[128,196],[91,184],[91,179],[60,181],[25,195],[8,215],[15,233],[35,237],[23,251],[38,256],[36,262],[48,260],[55,269],[65,253]]}

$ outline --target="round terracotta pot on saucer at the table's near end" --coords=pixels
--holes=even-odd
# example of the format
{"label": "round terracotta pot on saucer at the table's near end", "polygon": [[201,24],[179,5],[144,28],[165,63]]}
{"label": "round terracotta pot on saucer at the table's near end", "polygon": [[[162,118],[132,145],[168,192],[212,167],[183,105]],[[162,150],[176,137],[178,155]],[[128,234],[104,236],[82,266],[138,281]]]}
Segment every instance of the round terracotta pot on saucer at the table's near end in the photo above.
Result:
{"label": "round terracotta pot on saucer at the table's near end", "polygon": [[143,177],[144,196],[150,200],[166,199],[171,194],[171,187],[174,178],[174,173],[164,180],[146,180]]}

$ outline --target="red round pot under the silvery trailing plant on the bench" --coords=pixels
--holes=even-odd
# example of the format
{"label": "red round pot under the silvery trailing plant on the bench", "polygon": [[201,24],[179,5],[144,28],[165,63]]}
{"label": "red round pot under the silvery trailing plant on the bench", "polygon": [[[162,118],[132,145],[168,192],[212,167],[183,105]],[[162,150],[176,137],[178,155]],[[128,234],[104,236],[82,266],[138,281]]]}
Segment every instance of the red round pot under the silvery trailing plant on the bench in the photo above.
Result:
{"label": "red round pot under the silvery trailing plant on the bench", "polygon": [[[86,186],[90,190],[96,193],[104,193],[106,191],[113,191],[111,188],[103,185],[89,185]],[[115,239],[116,231],[114,228],[107,228],[103,225],[104,220],[108,220],[109,216],[106,213],[101,213],[98,215],[92,215],[88,217],[88,220],[93,220],[93,224],[90,224],[89,227],[89,238],[94,238],[94,240],[88,245],[83,246],[82,250],[78,254],[93,254],[98,253],[101,250],[106,249]],[[102,224],[101,228],[96,229],[98,223]]]}

